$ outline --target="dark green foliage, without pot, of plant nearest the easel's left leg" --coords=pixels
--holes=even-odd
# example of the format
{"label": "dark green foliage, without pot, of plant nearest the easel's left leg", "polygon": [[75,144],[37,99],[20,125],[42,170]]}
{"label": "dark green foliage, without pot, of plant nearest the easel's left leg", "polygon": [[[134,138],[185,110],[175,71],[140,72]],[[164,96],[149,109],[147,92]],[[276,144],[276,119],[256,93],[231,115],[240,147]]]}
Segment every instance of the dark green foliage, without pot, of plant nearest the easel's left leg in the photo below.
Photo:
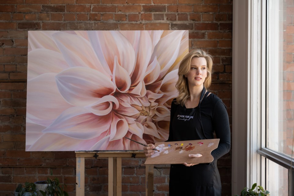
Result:
{"label": "dark green foliage, without pot, of plant nearest the easel's left leg", "polygon": [[[52,170],[50,170],[51,175],[53,175]],[[68,193],[64,190],[63,184],[59,183],[59,179],[55,177],[54,179],[47,178],[46,190],[39,190],[43,196],[68,196]]]}

